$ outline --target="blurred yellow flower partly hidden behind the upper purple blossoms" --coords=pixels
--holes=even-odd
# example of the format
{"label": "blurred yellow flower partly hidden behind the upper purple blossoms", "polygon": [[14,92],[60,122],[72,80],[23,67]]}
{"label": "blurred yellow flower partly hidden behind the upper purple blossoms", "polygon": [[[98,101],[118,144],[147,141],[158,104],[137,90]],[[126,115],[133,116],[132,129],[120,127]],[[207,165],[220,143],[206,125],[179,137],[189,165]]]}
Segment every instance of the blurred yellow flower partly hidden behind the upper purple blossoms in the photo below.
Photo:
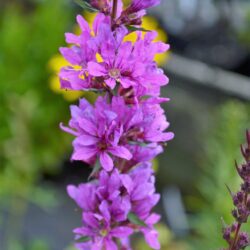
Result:
{"label": "blurred yellow flower partly hidden behind the upper purple blossoms", "polygon": [[[94,17],[96,14],[90,12],[84,12],[84,18],[92,24]],[[158,33],[156,41],[163,41],[167,42],[167,35],[166,32],[160,27],[158,21],[152,16],[144,16],[142,19],[142,27],[145,30],[155,30]],[[80,30],[78,26],[74,27],[74,33],[79,34]],[[136,34],[135,32],[130,33],[126,36],[127,41],[136,41]],[[169,53],[157,54],[155,56],[155,60],[159,65],[164,65],[168,60]],[[83,92],[83,91],[72,91],[72,90],[65,90],[60,88],[60,82],[58,79],[58,73],[63,66],[66,66],[67,62],[60,54],[55,54],[49,61],[49,69],[52,73],[50,78],[50,88],[52,91],[58,94],[62,94],[63,97],[71,102],[77,100],[79,97],[84,96],[85,98],[89,99],[90,101],[95,98],[95,95],[91,92]]]}

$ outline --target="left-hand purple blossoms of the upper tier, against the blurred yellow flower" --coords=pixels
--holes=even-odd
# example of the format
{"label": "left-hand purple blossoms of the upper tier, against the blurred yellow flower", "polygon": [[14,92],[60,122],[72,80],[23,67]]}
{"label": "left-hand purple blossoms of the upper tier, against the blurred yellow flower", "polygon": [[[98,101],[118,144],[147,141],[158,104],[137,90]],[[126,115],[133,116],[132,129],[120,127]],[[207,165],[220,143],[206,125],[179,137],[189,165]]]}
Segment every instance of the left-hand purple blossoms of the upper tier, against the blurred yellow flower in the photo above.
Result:
{"label": "left-hand purple blossoms of the upper tier, against the blurred yellow flower", "polygon": [[[81,28],[79,36],[66,33],[66,42],[73,44],[71,47],[62,47],[60,52],[70,63],[70,66],[63,67],[59,73],[61,88],[72,90],[103,89],[102,80],[88,75],[87,64],[96,60],[97,51],[91,44],[93,36],[87,21],[77,16],[77,22]],[[110,20],[103,14],[98,14],[94,20],[93,31],[97,34],[102,25],[109,24]]]}

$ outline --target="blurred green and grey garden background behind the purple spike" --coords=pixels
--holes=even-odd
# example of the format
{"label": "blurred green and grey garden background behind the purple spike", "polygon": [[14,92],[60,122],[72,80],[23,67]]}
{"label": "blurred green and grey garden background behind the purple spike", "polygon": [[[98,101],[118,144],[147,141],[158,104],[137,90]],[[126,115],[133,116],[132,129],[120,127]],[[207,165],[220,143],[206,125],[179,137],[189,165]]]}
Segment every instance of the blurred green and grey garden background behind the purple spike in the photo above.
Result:
{"label": "blurred green and grey garden background behind the purple spike", "polygon": [[[69,162],[72,137],[58,124],[77,98],[95,96],[60,90],[56,74],[64,32],[79,32],[77,13],[71,0],[0,2],[1,250],[74,249],[80,212],[65,187],[89,168]],[[171,80],[162,95],[176,134],[154,161],[162,249],[219,249],[221,218],[232,222],[225,184],[237,190],[234,159],[250,128],[250,2],[162,0],[143,26],[171,44],[156,58]],[[133,243],[148,249],[139,236]]]}

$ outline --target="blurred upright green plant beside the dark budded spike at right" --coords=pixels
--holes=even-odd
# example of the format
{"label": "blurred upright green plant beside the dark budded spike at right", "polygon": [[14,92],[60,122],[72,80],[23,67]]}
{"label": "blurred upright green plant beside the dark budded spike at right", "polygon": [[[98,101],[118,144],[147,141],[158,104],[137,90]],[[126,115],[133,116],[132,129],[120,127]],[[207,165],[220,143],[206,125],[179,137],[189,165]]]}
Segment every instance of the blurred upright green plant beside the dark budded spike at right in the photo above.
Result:
{"label": "blurred upright green plant beside the dark budded spike at right", "polygon": [[[202,158],[203,176],[198,183],[200,197],[189,197],[189,208],[197,212],[193,219],[196,232],[192,240],[192,249],[219,249],[225,243],[221,237],[221,218],[226,223],[232,221],[230,211],[233,208],[230,194],[226,194],[226,185],[237,190],[240,179],[232,169],[235,159],[241,160],[239,145],[250,124],[250,107],[232,101],[223,105],[214,119],[211,133],[206,135],[205,152]],[[241,136],[242,135],[242,136]],[[250,225],[243,227],[250,231]]]}

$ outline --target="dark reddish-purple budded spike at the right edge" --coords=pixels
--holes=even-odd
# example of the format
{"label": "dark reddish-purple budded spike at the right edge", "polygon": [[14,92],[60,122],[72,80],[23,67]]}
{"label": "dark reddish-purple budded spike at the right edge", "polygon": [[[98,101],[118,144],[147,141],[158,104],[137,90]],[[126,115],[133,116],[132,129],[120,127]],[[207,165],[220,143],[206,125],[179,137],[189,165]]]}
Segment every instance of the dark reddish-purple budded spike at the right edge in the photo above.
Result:
{"label": "dark reddish-purple budded spike at the right edge", "polygon": [[240,230],[242,224],[247,223],[250,216],[250,131],[247,131],[247,146],[241,146],[241,152],[245,163],[241,166],[236,164],[236,169],[243,183],[241,190],[236,194],[230,191],[235,206],[232,215],[236,222],[223,229],[223,238],[227,241],[229,250],[241,250],[250,246],[249,234]]}

